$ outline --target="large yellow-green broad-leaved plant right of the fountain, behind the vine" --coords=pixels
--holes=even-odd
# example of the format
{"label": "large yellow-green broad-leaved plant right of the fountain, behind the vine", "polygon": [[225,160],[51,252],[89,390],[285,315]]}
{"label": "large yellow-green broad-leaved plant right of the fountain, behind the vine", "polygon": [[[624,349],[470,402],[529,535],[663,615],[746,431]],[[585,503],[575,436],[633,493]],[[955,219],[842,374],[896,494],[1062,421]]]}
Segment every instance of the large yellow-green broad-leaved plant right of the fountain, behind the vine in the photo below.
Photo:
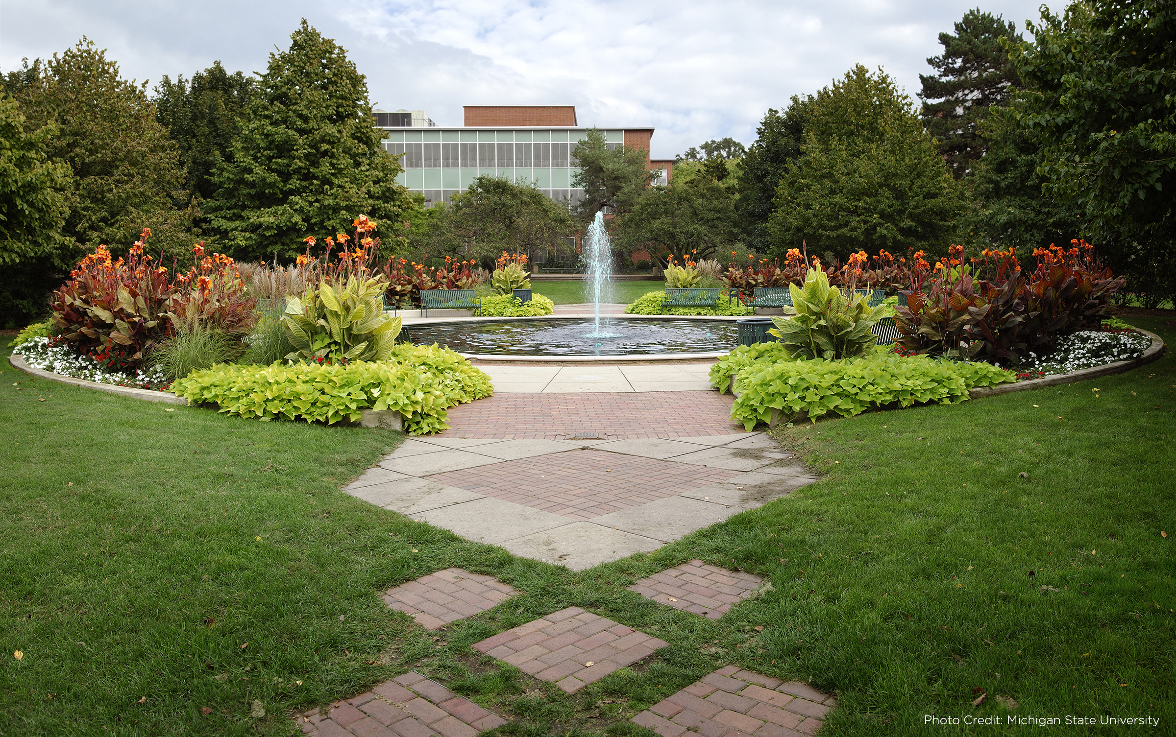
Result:
{"label": "large yellow-green broad-leaved plant right of the fountain, behind the vine", "polygon": [[877,339],[870,331],[882,319],[881,306],[870,308],[864,296],[829,286],[824,272],[810,269],[804,288],[789,286],[791,306],[783,311],[791,317],[773,317],[768,330],[780,339],[784,353],[795,359],[851,359],[870,350]]}

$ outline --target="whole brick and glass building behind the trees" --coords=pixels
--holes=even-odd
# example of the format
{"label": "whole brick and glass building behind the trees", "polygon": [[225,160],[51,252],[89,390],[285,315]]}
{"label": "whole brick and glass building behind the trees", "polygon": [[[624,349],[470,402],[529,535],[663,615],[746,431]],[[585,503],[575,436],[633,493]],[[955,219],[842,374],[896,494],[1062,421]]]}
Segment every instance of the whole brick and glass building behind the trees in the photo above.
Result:
{"label": "whole brick and glass building behind the trees", "polygon": [[[385,148],[400,156],[405,172],[397,182],[425,195],[427,207],[445,202],[479,175],[503,176],[534,185],[553,200],[576,202],[582,190],[572,186],[574,150],[587,138],[570,105],[472,105],[462,126],[437,126],[425,110],[376,112],[376,127],[387,132]],[[652,127],[601,127],[608,146],[643,149],[649,168],[664,173],[673,160],[649,159]]]}

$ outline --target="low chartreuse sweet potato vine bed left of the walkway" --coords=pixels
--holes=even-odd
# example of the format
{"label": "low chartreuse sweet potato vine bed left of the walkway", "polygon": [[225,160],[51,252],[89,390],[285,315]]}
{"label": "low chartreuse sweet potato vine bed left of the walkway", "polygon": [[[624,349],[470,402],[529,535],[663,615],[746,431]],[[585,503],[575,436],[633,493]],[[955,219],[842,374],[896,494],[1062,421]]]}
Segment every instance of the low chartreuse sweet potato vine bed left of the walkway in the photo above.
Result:
{"label": "low chartreuse sweet potato vine bed left of the walkway", "polygon": [[448,428],[449,407],[489,396],[490,378],[448,348],[400,344],[387,361],[347,364],[214,366],[172,384],[194,404],[259,420],[358,421],[393,409],[410,435]]}

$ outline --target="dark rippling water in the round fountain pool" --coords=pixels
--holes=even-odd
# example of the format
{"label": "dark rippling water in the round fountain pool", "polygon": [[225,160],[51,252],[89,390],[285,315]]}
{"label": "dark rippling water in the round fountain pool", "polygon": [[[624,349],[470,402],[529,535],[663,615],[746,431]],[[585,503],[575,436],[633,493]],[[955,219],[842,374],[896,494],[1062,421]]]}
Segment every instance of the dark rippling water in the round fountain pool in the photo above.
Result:
{"label": "dark rippling water in the round fountain pool", "polygon": [[414,343],[439,343],[487,356],[633,356],[716,354],[734,348],[733,320],[614,319],[594,336],[592,320],[546,319],[417,323],[405,327]]}

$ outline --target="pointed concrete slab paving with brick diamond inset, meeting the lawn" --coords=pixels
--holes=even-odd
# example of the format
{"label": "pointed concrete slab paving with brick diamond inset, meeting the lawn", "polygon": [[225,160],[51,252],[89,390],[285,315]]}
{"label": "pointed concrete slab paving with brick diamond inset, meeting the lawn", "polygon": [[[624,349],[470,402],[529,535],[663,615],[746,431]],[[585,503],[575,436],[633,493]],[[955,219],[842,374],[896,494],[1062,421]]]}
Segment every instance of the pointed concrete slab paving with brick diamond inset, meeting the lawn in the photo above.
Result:
{"label": "pointed concrete slab paving with brick diamond inset, meeting the lawn", "polygon": [[814,481],[790,458],[760,433],[429,436],[405,441],[345,491],[467,540],[582,570],[656,550]]}

